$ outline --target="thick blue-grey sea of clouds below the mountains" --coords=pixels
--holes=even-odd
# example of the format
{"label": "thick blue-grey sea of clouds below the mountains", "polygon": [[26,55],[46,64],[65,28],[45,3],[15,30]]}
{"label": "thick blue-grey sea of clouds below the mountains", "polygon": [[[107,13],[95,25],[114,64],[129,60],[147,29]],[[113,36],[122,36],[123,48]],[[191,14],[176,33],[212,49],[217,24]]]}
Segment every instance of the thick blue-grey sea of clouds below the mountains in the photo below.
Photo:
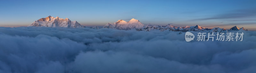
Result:
{"label": "thick blue-grey sea of clouds below the mountains", "polygon": [[244,32],[243,41],[186,42],[184,32],[158,30],[0,27],[0,73],[255,73],[256,31],[233,32]]}

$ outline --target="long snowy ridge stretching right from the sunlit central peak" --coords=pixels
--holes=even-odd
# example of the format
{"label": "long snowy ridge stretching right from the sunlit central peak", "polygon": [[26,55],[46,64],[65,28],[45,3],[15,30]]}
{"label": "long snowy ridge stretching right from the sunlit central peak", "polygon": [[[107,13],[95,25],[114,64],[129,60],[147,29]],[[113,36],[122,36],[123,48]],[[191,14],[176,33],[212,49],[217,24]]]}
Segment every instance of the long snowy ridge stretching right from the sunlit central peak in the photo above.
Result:
{"label": "long snowy ridge stretching right from the sunlit central peak", "polygon": [[[133,22],[129,23],[129,22]],[[169,30],[169,31],[182,31],[182,32],[186,32],[186,31],[205,31],[205,30],[209,30],[209,32],[228,32],[230,30],[239,30],[238,27],[234,26],[233,28],[231,28],[230,30],[226,30],[225,28],[221,29],[221,28],[213,28],[213,29],[208,29],[208,28],[203,28],[199,25],[196,26],[186,26],[186,27],[176,27],[173,26],[172,24],[167,24],[165,26],[156,26],[156,25],[144,25],[142,23],[140,23],[140,21],[136,20],[136,19],[131,19],[130,21],[126,22],[124,20],[118,20],[116,23],[108,23],[105,26],[103,26],[103,28],[111,28],[111,29],[117,29],[117,30],[131,30],[131,29],[135,29],[138,31],[141,30],[145,30],[145,31],[150,31],[150,30],[160,30],[160,31],[165,31],[165,30]],[[241,28],[242,30],[245,30],[244,28]]]}

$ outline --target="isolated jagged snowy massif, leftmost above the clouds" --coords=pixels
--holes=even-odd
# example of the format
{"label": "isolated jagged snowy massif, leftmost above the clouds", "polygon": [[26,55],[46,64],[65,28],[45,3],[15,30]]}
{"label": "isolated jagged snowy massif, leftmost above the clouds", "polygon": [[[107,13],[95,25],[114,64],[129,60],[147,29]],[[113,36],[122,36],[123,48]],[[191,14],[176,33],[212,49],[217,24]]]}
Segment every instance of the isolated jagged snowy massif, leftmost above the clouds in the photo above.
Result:
{"label": "isolated jagged snowy massif, leftmost above the clouds", "polygon": [[68,18],[59,18],[59,17],[52,17],[48,16],[45,18],[41,18],[36,20],[29,26],[36,26],[36,27],[68,27],[68,28],[79,28],[83,27],[80,23],[76,21],[70,21]]}

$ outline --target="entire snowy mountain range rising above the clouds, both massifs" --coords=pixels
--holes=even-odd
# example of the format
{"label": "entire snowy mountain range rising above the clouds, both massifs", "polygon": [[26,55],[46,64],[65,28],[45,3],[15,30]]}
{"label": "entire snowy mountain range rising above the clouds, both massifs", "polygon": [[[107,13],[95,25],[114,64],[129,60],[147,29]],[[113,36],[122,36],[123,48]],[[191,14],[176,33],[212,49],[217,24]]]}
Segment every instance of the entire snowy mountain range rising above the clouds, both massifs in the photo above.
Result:
{"label": "entire snowy mountain range rising above the clouds, both massifs", "polygon": [[[32,23],[29,26],[36,26],[36,27],[68,27],[68,28],[92,28],[92,29],[99,29],[99,27],[86,27],[82,26],[80,23],[76,21],[70,21],[68,18],[59,18],[59,17],[46,17],[41,18],[39,20],[36,20],[34,23]],[[209,30],[209,32],[228,32],[231,30],[245,30],[243,27],[238,28],[237,26],[234,26],[230,28],[229,30],[226,30],[225,28],[221,29],[219,27],[215,27],[213,29],[203,28],[199,25],[196,26],[186,26],[186,27],[176,27],[172,24],[167,24],[165,26],[160,25],[144,25],[140,23],[139,20],[136,20],[132,18],[130,21],[126,22],[124,20],[118,20],[116,23],[108,23],[103,28],[109,28],[109,29],[117,29],[117,30],[137,30],[137,31],[151,31],[151,30],[160,30],[160,31],[206,31]]]}

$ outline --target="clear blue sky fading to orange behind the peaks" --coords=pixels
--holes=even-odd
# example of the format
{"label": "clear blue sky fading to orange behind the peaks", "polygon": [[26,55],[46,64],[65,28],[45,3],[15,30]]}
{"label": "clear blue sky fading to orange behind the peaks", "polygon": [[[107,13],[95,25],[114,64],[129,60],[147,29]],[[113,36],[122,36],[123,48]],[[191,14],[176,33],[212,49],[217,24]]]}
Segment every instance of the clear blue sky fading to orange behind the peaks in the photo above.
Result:
{"label": "clear blue sky fading to orange behind the peaks", "polygon": [[28,26],[48,16],[84,26],[138,19],[147,25],[233,26],[256,30],[256,0],[1,0],[0,26]]}

